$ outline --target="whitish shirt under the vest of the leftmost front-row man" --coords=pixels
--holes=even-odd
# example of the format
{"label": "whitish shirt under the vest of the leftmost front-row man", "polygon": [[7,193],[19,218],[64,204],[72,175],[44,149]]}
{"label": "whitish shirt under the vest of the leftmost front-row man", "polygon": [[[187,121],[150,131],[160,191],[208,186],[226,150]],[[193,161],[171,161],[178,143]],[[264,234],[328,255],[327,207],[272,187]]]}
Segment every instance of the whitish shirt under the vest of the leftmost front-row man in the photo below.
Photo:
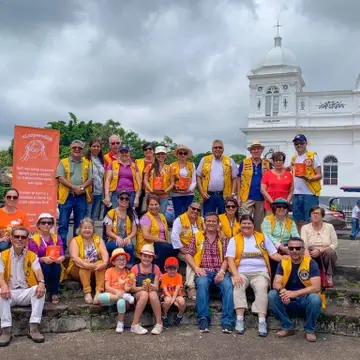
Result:
{"label": "whitish shirt under the vest of the leftmost front-row man", "polygon": [[[10,248],[11,256],[11,273],[9,278],[8,287],[10,290],[14,289],[27,289],[29,287],[26,277],[24,274],[24,261],[27,249],[24,248],[23,252],[20,255],[16,255],[14,249]],[[5,265],[0,257],[0,273],[4,273]],[[32,263],[33,271],[40,269],[40,263],[38,257]]]}

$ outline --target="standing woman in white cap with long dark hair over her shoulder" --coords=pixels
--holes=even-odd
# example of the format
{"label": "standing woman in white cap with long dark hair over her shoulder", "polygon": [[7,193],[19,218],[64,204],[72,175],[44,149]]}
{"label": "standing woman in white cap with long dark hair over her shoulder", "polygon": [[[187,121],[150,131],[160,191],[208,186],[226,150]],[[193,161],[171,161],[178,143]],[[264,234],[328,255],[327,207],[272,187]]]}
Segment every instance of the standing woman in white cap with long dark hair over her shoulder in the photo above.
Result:
{"label": "standing woman in white cap with long dark hair over her shoulder", "polygon": [[167,149],[165,146],[155,148],[155,160],[145,169],[144,185],[148,194],[157,195],[160,199],[160,212],[165,214],[169,192],[174,187],[170,166],[165,164]]}

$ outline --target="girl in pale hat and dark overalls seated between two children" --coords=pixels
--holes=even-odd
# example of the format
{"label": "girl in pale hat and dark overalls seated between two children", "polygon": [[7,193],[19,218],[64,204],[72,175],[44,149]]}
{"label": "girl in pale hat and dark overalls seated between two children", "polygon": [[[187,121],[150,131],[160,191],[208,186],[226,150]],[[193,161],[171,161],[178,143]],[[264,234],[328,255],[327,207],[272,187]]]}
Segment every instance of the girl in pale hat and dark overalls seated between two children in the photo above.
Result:
{"label": "girl in pale hat and dark overalls seated between two children", "polygon": [[133,273],[136,278],[135,286],[132,288],[132,292],[135,293],[136,296],[136,307],[131,324],[131,332],[138,335],[148,333],[148,331],[140,325],[140,317],[148,303],[150,303],[156,320],[156,324],[151,333],[153,335],[160,335],[163,330],[161,304],[158,295],[161,271],[157,265],[153,264],[154,259],[154,246],[152,244],[146,244],[140,251],[140,264],[134,265],[131,269],[131,273]]}

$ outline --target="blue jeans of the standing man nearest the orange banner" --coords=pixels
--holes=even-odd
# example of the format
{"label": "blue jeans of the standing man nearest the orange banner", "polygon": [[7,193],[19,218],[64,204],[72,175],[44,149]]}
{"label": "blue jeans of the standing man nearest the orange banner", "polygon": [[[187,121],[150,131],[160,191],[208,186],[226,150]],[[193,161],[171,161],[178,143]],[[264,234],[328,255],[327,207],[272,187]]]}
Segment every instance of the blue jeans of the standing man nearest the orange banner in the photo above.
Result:
{"label": "blue jeans of the standing man nearest the orange banner", "polygon": [[85,195],[69,194],[65,203],[59,204],[59,211],[58,234],[63,241],[64,250],[66,250],[71,212],[74,214],[73,236],[77,235],[80,221],[86,216],[87,204]]}

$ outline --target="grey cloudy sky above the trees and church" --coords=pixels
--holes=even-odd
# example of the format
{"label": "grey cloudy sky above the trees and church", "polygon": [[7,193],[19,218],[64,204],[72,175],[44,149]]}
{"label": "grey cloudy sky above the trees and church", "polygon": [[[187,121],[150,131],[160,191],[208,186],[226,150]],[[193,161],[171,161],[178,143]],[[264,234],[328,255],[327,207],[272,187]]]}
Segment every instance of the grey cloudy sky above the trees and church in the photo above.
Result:
{"label": "grey cloudy sky above the trees and church", "polygon": [[352,89],[359,0],[0,0],[0,148],[14,124],[120,121],[196,152],[243,149],[249,70],[273,45],[305,90]]}

